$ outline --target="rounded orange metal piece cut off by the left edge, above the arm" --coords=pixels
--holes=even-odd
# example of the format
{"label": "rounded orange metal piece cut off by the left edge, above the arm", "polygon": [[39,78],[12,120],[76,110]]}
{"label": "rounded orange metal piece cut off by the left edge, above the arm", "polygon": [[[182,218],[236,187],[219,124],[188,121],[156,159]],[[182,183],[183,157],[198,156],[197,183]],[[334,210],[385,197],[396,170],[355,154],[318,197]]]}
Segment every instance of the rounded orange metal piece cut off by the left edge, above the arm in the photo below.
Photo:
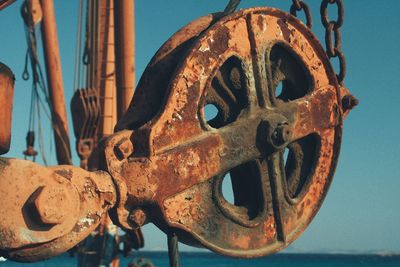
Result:
{"label": "rounded orange metal piece cut off by the left edge, above the arm", "polygon": [[13,98],[14,74],[0,62],[0,155],[10,149]]}

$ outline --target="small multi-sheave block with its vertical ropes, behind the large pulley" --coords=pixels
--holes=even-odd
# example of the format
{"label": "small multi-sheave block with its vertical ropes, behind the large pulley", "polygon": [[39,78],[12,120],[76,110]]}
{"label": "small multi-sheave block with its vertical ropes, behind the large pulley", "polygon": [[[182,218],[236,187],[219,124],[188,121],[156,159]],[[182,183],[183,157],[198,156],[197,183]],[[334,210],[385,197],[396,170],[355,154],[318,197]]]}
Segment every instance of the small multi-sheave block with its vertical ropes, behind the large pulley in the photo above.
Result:
{"label": "small multi-sheave block with its vertical ropes, behind the large pulley", "polygon": [[[100,116],[97,68],[99,43],[99,1],[83,0],[79,3],[74,96],[71,102],[76,147],[81,167],[87,168],[88,159],[95,148]],[[86,12],[83,10],[86,9]],[[85,18],[84,18],[85,13]],[[85,25],[83,25],[85,21]],[[84,28],[85,27],[85,28]],[[83,35],[84,34],[84,35]],[[84,36],[84,37],[83,37]],[[84,38],[84,41],[82,40]],[[84,46],[83,54],[82,46]],[[82,57],[81,57],[82,56]]]}

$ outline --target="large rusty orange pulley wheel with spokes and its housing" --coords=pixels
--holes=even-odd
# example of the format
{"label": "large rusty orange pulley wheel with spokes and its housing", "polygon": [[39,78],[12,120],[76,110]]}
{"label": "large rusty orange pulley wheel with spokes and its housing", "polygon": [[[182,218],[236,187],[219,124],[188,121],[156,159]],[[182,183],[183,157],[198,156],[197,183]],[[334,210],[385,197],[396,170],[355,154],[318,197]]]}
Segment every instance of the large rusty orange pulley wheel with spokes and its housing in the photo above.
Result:
{"label": "large rusty orange pulley wheel with spokes and its housing", "polygon": [[[114,218],[133,229],[130,212],[144,210],[146,221],[174,228],[188,244],[263,256],[294,241],[322,204],[345,90],[315,36],[291,15],[252,8],[216,16],[192,22],[159,50],[117,126],[125,131],[106,142],[120,192]],[[229,177],[231,202],[222,192]]]}

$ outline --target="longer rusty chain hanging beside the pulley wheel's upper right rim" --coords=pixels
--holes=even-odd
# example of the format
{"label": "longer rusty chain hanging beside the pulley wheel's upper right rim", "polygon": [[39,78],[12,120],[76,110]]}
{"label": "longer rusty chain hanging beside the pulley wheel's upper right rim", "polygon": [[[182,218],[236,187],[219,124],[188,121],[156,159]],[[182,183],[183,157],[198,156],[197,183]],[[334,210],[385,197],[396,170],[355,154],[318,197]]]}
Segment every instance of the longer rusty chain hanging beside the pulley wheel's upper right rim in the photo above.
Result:
{"label": "longer rusty chain hanging beside the pulley wheel's upper right rim", "polygon": [[[328,15],[328,5],[336,4],[338,9],[337,20],[330,20]],[[339,59],[339,74],[337,79],[343,85],[346,77],[346,58],[342,52],[342,34],[340,28],[344,22],[343,0],[322,0],[321,3],[321,21],[325,27],[325,45],[326,53],[329,58],[337,57]],[[333,35],[333,38],[332,38]]]}

